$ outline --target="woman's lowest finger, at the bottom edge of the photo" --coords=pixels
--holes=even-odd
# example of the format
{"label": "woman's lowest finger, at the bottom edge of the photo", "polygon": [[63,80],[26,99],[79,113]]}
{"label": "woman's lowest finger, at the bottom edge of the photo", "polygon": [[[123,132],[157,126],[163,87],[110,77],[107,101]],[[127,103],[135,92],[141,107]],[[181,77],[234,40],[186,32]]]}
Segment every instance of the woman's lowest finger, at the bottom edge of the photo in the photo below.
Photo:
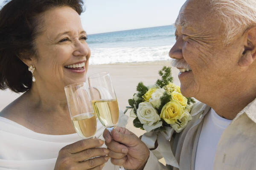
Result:
{"label": "woman's lowest finger, at the bottom edge of the photo", "polygon": [[82,161],[78,163],[77,169],[78,170],[91,170],[93,168],[99,168],[101,165],[105,164],[109,156],[100,156],[96,158],[91,158],[86,161]]}

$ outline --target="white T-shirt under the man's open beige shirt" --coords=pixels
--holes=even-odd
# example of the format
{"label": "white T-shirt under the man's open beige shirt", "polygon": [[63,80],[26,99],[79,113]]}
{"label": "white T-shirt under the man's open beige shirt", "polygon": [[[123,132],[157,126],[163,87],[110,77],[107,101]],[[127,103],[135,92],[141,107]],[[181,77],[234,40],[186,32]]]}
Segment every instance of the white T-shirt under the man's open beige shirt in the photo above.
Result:
{"label": "white T-shirt under the man's open beige shirt", "polygon": [[221,134],[232,120],[219,116],[213,109],[205,116],[195,155],[195,170],[212,170]]}

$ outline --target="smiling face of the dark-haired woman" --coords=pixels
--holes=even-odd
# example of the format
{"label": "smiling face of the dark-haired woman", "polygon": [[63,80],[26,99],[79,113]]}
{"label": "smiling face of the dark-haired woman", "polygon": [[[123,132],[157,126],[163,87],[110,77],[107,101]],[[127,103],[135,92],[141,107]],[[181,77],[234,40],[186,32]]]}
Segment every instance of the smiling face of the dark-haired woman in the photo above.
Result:
{"label": "smiling face of the dark-haired woman", "polygon": [[60,89],[86,81],[90,49],[79,14],[70,7],[42,14],[42,33],[35,38],[37,84]]}

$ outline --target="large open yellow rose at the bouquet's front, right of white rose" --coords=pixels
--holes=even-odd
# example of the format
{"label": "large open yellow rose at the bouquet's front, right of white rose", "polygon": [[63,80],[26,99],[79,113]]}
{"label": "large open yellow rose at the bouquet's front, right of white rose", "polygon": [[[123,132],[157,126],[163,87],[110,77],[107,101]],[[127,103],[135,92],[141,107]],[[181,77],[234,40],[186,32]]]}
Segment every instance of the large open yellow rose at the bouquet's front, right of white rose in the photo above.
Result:
{"label": "large open yellow rose at the bouquet's front, right of white rose", "polygon": [[163,106],[160,118],[163,118],[163,120],[168,124],[174,124],[175,121],[180,118],[182,113],[183,108],[180,103],[175,100],[171,100]]}

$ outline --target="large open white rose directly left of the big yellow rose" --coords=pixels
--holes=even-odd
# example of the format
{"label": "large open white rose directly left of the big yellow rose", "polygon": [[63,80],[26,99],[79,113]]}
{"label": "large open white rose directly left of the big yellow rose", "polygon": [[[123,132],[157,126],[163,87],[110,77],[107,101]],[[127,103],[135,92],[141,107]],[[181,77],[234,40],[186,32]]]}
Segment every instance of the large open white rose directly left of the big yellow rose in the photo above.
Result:
{"label": "large open white rose directly left of the big yellow rose", "polygon": [[137,109],[137,116],[140,120],[140,123],[147,124],[148,126],[151,126],[152,124],[160,121],[160,116],[157,114],[157,110],[148,102],[139,104],[139,108]]}

